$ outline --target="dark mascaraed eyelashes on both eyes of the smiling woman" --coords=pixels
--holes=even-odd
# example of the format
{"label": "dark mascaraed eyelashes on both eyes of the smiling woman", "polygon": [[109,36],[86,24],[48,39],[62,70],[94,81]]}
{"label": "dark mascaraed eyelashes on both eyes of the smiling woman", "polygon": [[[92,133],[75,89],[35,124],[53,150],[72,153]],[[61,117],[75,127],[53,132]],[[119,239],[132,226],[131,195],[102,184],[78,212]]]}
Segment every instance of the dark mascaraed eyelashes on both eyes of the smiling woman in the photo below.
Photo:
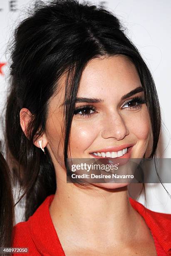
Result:
{"label": "dark mascaraed eyelashes on both eyes of the smiling woman", "polygon": [[[143,97],[134,97],[132,98],[131,100],[126,100],[122,107],[124,107],[124,105],[128,104],[128,103],[138,103],[138,105],[135,105],[133,107],[128,107],[129,110],[137,110],[139,108],[141,108],[141,104],[144,104],[146,103],[146,100],[144,100]],[[74,110],[74,115],[81,115],[82,117],[84,116],[87,116],[89,117],[90,115],[94,114],[94,113],[89,113],[89,114],[78,114],[80,111],[83,111],[83,110],[93,110],[93,111],[96,111],[97,109],[94,107],[94,106],[91,106],[91,105],[84,105],[84,106],[81,106],[81,107],[78,107],[78,108],[75,108]]]}

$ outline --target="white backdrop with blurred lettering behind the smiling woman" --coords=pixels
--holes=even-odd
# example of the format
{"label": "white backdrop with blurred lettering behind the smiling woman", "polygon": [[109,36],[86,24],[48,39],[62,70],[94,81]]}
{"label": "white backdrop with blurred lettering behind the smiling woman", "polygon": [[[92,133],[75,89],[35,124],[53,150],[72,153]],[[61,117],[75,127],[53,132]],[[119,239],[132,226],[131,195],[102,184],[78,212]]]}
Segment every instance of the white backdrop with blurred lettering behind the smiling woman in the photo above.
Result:
{"label": "white backdrop with blurred lettering behind the smiling woman", "polygon": [[[27,7],[35,1],[0,1],[0,113],[5,103],[9,68],[5,50],[17,23],[27,16]],[[106,6],[120,18],[127,35],[139,49],[156,83],[162,111],[163,129],[159,141],[159,156],[171,158],[171,1],[170,0],[108,0],[91,1]],[[166,126],[166,127],[165,127]],[[0,130],[0,139],[2,129]],[[171,184],[165,184],[171,194]],[[146,184],[147,207],[171,213],[171,199],[161,184]],[[140,197],[139,202],[144,202]],[[20,219],[20,218],[19,218]]]}

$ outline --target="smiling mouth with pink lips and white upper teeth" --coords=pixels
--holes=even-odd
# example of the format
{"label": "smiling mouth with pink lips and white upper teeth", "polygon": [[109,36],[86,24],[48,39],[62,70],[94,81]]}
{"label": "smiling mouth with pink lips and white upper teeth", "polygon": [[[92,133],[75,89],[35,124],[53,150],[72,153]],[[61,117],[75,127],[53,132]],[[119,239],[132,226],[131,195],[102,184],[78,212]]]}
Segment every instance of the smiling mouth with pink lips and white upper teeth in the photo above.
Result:
{"label": "smiling mouth with pink lips and white upper teeth", "polygon": [[94,152],[94,153],[89,153],[90,155],[92,155],[95,158],[120,158],[122,156],[126,156],[128,155],[128,153],[131,151],[131,148],[133,146],[124,148],[120,151],[108,151],[108,152]]}

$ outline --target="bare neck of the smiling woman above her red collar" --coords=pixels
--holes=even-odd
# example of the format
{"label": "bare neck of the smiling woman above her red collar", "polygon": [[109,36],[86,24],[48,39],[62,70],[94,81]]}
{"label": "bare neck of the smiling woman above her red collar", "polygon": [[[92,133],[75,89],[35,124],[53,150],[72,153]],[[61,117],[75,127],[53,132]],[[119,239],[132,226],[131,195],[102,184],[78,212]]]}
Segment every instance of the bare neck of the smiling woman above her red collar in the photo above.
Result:
{"label": "bare neck of the smiling woman above her red collar", "polygon": [[62,230],[65,236],[70,233],[73,240],[74,234],[86,241],[91,237],[92,243],[103,241],[104,237],[107,241],[115,238],[118,243],[130,236],[132,239],[139,226],[139,214],[129,202],[127,187],[88,188],[59,182],[50,215],[57,234]]}

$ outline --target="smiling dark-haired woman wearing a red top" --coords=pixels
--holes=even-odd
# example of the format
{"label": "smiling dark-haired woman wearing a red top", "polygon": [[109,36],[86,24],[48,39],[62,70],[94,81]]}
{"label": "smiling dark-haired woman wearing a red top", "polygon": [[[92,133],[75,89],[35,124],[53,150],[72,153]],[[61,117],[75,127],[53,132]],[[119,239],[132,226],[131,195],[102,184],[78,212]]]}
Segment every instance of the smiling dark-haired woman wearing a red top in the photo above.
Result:
{"label": "smiling dark-haired woman wearing a red top", "polygon": [[7,145],[26,195],[13,246],[169,255],[171,215],[129,198],[128,183],[66,181],[67,158],[155,157],[160,128],[153,78],[119,20],[76,0],[37,5],[12,49]]}

